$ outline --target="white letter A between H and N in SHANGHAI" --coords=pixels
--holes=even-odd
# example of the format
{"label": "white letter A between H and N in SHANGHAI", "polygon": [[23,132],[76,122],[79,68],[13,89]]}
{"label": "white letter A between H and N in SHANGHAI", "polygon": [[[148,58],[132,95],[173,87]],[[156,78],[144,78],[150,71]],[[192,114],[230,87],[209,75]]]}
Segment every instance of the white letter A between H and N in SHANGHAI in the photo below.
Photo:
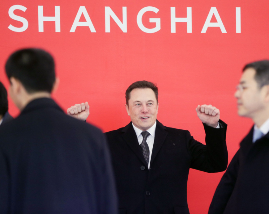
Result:
{"label": "white letter A between H and N in SHANGHAI", "polygon": [[[85,17],[86,22],[80,22],[79,21],[79,19],[80,19],[80,17],[81,17],[82,14]],[[77,26],[88,26],[90,28],[90,31],[91,32],[93,32],[93,33],[96,32],[96,30],[95,30],[95,28],[94,28],[94,26],[92,24],[92,20],[90,19],[90,16],[89,16],[89,14],[88,14],[85,6],[80,6],[79,7],[79,11],[78,11],[78,13],[76,15],[76,18],[74,20],[74,23],[73,23],[73,25],[71,27],[70,32],[75,32]]]}

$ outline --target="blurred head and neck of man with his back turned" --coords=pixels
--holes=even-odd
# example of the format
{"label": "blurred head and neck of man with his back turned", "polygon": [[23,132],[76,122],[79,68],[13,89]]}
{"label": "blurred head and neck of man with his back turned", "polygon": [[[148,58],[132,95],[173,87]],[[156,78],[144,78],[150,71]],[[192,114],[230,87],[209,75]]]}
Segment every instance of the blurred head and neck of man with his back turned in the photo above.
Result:
{"label": "blurred head and neck of man with his back turned", "polygon": [[54,60],[44,50],[37,48],[18,50],[8,58],[5,69],[11,83],[10,96],[19,109],[22,109],[29,99],[49,96],[53,90]]}

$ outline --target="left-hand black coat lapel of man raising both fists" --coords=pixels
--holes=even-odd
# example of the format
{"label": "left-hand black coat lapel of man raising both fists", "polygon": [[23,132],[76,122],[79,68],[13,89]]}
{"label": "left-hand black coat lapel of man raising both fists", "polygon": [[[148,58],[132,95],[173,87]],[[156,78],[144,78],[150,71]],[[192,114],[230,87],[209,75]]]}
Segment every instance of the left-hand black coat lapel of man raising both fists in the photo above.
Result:
{"label": "left-hand black coat lapel of man raising both fists", "polygon": [[[136,156],[147,166],[147,162],[143,156],[142,149],[139,146],[135,130],[133,128],[132,122],[122,129],[122,138],[127,143],[127,145],[132,149]],[[147,168],[147,167],[146,167]]]}

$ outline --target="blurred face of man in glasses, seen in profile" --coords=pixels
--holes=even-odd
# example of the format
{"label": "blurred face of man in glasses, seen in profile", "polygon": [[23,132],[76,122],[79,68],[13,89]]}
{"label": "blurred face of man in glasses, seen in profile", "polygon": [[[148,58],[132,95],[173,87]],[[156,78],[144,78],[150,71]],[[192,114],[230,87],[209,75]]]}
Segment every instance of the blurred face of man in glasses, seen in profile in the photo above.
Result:
{"label": "blurred face of man in glasses, seen in profile", "polygon": [[254,79],[255,73],[256,71],[253,68],[246,69],[234,94],[237,99],[238,115],[252,119],[265,110],[265,90],[259,88],[258,83]]}

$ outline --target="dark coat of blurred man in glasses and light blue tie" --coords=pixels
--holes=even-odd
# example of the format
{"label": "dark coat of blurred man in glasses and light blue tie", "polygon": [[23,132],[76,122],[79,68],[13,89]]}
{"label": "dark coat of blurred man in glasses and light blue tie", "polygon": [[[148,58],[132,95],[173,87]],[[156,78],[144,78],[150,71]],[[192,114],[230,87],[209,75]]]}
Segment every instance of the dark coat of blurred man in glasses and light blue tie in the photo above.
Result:
{"label": "dark coat of blurred man in glasses and light blue tie", "polygon": [[253,127],[221,178],[208,213],[269,213],[269,133],[255,143],[252,136]]}

